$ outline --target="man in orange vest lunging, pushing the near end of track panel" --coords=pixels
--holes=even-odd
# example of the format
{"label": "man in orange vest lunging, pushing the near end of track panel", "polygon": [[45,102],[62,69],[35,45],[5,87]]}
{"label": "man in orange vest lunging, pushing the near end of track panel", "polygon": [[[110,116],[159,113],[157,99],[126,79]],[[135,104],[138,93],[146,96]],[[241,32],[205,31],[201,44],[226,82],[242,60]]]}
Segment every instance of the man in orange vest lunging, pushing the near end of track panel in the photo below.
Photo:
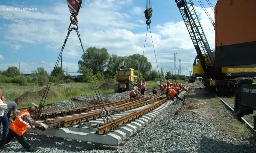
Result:
{"label": "man in orange vest lunging, pushing the near end of track panel", "polygon": [[24,133],[28,129],[28,125],[31,128],[34,128],[34,124],[43,127],[44,129],[48,129],[48,126],[44,123],[34,121],[30,115],[35,113],[36,108],[30,107],[28,110],[23,110],[20,112],[18,117],[11,123],[9,127],[9,132],[7,137],[4,140],[0,140],[0,147],[12,141],[15,137],[16,140],[28,151],[28,152],[36,152],[38,147],[31,147],[24,138]]}

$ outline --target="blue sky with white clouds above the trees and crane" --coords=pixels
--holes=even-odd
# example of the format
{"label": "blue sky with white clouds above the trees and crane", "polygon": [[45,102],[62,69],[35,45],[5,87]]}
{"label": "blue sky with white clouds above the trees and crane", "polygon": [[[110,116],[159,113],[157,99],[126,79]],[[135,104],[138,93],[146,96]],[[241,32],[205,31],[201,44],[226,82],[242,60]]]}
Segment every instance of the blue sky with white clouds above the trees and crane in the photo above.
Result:
{"label": "blue sky with white clouds above the trees and crane", "polygon": [[[201,0],[214,20],[214,12]],[[204,10],[194,5],[211,49],[214,49],[214,27]],[[217,0],[210,0],[215,6]],[[84,50],[105,47],[118,56],[143,54],[146,38],[144,0],[83,0],[79,10],[78,30]],[[177,73],[181,59],[182,74],[192,70],[196,51],[175,0],[152,0],[150,33],[144,55],[152,70],[174,73],[174,52],[177,52]],[[68,33],[70,12],[66,0],[8,0],[0,2],[0,70],[16,66],[24,74],[37,67],[50,73],[59,57]],[[149,32],[149,30],[148,30]],[[76,31],[71,31],[62,53],[62,66],[77,75],[83,50]],[[158,65],[158,69],[157,69]],[[59,65],[60,66],[60,63]],[[172,68],[173,67],[173,68]]]}

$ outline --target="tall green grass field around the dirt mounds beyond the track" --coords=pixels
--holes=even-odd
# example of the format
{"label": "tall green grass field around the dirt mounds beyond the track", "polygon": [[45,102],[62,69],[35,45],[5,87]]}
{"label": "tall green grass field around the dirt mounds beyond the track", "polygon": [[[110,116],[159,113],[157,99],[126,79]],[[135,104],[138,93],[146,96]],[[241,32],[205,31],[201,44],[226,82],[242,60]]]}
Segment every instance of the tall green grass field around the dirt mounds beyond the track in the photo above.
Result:
{"label": "tall green grass field around the dirt mounds beyond the track", "polygon": [[[180,81],[179,81],[180,82]],[[184,81],[183,81],[184,82]],[[103,82],[97,82],[97,87],[99,88]],[[156,81],[146,81],[147,87],[157,86]],[[87,95],[87,96],[95,96],[95,91],[92,87],[91,83],[66,83],[69,87],[73,89],[70,91],[66,91],[68,88],[64,85],[55,85],[51,84],[51,88],[61,93],[61,96],[46,98],[44,104],[55,103],[59,101],[68,100],[70,98]],[[5,97],[5,101],[14,101],[15,98],[20,97],[25,92],[36,92],[42,90],[44,87],[39,87],[35,84],[28,84],[26,86],[19,86],[18,84],[13,83],[2,83],[0,88],[3,90],[3,96]],[[100,94],[112,94],[114,93],[114,89],[110,90],[99,90]],[[18,108],[29,107],[32,106],[31,102],[36,104],[40,104],[42,97],[38,97],[38,99],[28,99],[27,101],[22,101]]]}

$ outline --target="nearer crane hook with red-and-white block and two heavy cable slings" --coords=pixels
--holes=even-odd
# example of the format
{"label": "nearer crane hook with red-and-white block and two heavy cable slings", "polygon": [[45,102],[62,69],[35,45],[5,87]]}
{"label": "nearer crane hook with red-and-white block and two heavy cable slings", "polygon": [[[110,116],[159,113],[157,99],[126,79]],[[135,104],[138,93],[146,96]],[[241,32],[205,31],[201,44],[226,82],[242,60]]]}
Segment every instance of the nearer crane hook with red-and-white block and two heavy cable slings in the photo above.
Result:
{"label": "nearer crane hook with red-and-white block and two heavy cable slings", "polygon": [[[69,12],[71,13],[71,16],[70,16],[70,24],[69,24],[69,27],[68,27],[68,34],[67,34],[67,36],[66,36],[66,38],[65,38],[65,41],[64,41],[64,44],[63,44],[63,46],[62,46],[62,48],[61,48],[59,57],[58,57],[57,62],[56,62],[56,64],[55,64],[55,66],[54,66],[53,73],[52,73],[52,75],[51,75],[51,77],[50,77],[50,80],[49,80],[49,82],[48,82],[48,84],[47,84],[47,87],[46,87],[46,90],[45,90],[45,92],[44,92],[43,98],[42,98],[42,100],[40,101],[40,104],[39,104],[38,108],[36,108],[36,112],[35,112],[36,119],[39,119],[39,118],[40,118],[41,113],[42,113],[42,110],[44,109],[44,102],[45,102],[45,99],[46,99],[46,97],[47,97],[48,91],[49,91],[49,89],[50,89],[53,76],[54,76],[55,71],[56,71],[56,69],[57,69],[57,66],[58,66],[58,64],[59,64],[60,57],[61,57],[61,55],[62,55],[62,52],[63,52],[64,48],[65,48],[65,45],[66,45],[66,42],[67,42],[67,40],[68,40],[69,34],[70,34],[70,32],[71,32],[72,30],[75,30],[76,33],[77,33],[77,36],[78,36],[78,38],[79,38],[81,47],[82,47],[82,49],[83,49],[84,57],[85,57],[85,60],[86,60],[86,63],[87,63],[88,69],[89,69],[90,77],[91,77],[91,80],[92,80],[93,89],[94,89],[94,91],[95,91],[95,94],[96,94],[98,100],[100,101],[101,106],[102,106],[102,111],[101,111],[102,114],[101,114],[101,117],[102,117],[102,119],[103,119],[103,122],[105,122],[105,118],[106,118],[107,122],[111,122],[112,125],[113,125],[113,128],[116,129],[116,128],[117,128],[116,121],[113,119],[113,117],[111,117],[109,111],[105,108],[105,105],[104,105],[104,103],[103,103],[103,101],[102,101],[102,98],[101,98],[101,96],[100,96],[99,89],[98,89],[98,87],[97,87],[97,85],[96,85],[96,82],[95,82],[95,79],[94,79],[94,77],[93,77],[92,69],[91,69],[91,67],[90,67],[90,64],[89,64],[89,62],[88,62],[88,59],[87,59],[86,54],[85,54],[85,52],[84,52],[84,47],[83,47],[83,44],[82,44],[82,41],[81,41],[80,33],[79,33],[79,31],[78,31],[78,25],[77,25],[77,24],[78,24],[78,20],[77,20],[77,17],[76,17],[76,16],[78,15],[79,9],[80,9],[80,7],[81,7],[82,0],[76,0],[76,1],[74,1],[74,0],[67,0],[67,3],[68,3]],[[71,24],[76,25],[76,27],[72,27],[72,28],[71,28]],[[93,82],[93,81],[94,81],[94,82]],[[96,89],[95,89],[93,83],[95,84],[95,87],[96,87],[96,89],[97,89],[97,92],[96,92]],[[110,119],[109,119],[108,117],[110,117]]]}

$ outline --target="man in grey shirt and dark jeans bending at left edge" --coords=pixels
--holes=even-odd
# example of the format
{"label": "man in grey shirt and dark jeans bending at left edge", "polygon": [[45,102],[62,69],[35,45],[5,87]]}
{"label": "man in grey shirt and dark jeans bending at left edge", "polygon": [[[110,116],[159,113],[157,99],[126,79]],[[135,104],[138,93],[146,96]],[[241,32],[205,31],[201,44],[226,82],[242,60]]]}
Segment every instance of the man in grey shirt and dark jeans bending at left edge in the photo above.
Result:
{"label": "man in grey shirt and dark jeans bending at left edge", "polygon": [[17,117],[16,113],[20,114],[20,111],[17,109],[17,105],[19,105],[20,102],[21,102],[21,100],[19,98],[15,98],[14,101],[6,102],[7,109],[4,110],[4,116],[1,120],[1,122],[3,124],[3,138],[2,139],[5,139],[7,136],[11,112],[12,112],[14,119]]}

